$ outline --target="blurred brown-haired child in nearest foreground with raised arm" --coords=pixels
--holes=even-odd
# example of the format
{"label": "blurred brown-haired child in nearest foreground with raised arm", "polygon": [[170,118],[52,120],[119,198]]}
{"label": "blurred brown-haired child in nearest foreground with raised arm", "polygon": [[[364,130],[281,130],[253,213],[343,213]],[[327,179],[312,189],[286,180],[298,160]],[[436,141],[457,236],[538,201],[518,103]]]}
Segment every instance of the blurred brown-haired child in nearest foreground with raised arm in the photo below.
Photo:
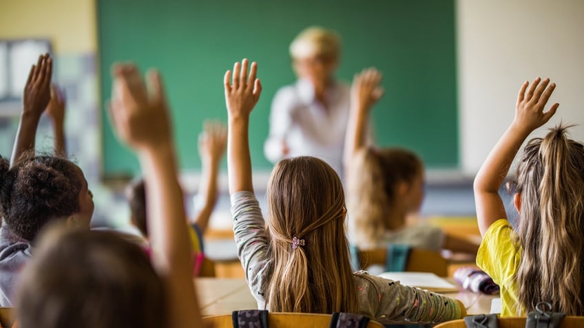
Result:
{"label": "blurred brown-haired child in nearest foreground with raised arm", "polygon": [[51,231],[19,283],[20,328],[203,327],[160,76],[150,84],[147,92],[136,67],[116,65],[110,111],[147,182],[152,264],[114,232]]}

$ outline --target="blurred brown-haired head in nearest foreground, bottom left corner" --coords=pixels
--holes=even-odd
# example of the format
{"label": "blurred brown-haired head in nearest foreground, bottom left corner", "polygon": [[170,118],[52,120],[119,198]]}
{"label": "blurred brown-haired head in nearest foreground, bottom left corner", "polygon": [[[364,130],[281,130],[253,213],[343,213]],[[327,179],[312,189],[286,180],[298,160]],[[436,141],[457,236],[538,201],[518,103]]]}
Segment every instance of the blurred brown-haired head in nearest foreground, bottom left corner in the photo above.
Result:
{"label": "blurred brown-haired head in nearest foreground, bottom left corner", "polygon": [[17,291],[19,327],[164,327],[165,289],[115,232],[52,227]]}

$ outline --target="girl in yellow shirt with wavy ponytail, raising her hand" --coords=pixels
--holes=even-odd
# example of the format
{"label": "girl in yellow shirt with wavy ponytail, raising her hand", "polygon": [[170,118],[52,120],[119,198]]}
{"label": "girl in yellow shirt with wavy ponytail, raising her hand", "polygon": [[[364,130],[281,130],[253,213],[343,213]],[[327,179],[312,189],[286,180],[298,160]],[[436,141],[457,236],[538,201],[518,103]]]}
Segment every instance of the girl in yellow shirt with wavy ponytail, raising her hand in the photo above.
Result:
{"label": "girl in yellow shirt with wavy ponytail, raising her hand", "polygon": [[559,107],[544,111],[556,87],[549,83],[523,83],[512,124],[474,179],[483,235],[477,264],[501,286],[503,316],[524,315],[539,302],[584,316],[584,145],[568,139],[565,127],[528,142],[517,166],[515,228],[498,193],[523,141]]}

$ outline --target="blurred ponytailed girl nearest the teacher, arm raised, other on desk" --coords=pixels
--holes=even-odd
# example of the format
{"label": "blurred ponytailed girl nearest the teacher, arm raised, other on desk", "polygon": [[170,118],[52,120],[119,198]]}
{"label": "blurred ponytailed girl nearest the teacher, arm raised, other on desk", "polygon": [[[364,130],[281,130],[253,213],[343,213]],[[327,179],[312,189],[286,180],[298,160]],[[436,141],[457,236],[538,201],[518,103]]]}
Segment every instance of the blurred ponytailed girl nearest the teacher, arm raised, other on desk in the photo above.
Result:
{"label": "blurred ponytailed girl nearest the teacher, arm raised, other on desk", "polygon": [[346,133],[347,208],[353,242],[362,249],[388,243],[476,254],[478,243],[428,225],[406,226],[424,199],[424,164],[406,149],[366,145],[371,108],[383,95],[382,75],[366,69],[355,76]]}

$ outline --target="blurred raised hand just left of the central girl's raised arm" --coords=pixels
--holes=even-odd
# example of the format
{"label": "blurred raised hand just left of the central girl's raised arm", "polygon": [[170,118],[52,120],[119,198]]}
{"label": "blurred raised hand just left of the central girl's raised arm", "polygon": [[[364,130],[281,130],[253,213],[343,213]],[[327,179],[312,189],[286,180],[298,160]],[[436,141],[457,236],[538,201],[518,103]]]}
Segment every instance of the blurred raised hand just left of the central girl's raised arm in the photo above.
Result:
{"label": "blurred raised hand just left of the central girl's raised arm", "polygon": [[220,121],[205,121],[199,134],[198,150],[207,165],[218,165],[227,147],[227,127]]}

